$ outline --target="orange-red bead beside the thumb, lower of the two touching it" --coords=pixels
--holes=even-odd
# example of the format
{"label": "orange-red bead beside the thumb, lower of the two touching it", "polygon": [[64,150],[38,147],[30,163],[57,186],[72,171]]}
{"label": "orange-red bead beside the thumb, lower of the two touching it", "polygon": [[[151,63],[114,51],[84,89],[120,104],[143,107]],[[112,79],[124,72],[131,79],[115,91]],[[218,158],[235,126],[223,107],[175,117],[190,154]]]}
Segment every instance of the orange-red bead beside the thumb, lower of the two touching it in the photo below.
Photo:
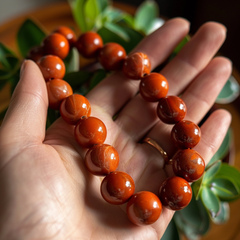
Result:
{"label": "orange-red bead beside the thumb, lower of the two touching it", "polygon": [[62,101],[73,94],[71,86],[62,79],[53,79],[46,83],[49,107],[59,110]]}

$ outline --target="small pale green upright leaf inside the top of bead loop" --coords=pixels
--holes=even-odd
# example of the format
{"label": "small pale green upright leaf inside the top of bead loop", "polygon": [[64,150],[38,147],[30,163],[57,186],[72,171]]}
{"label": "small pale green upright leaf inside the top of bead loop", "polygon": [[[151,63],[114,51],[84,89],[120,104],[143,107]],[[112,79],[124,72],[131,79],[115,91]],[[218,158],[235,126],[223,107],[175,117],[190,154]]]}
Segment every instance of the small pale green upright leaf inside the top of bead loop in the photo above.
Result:
{"label": "small pale green upright leaf inside the top of bead loop", "polygon": [[76,72],[79,69],[79,53],[78,50],[73,47],[68,56],[64,59],[64,64],[66,67],[66,73]]}

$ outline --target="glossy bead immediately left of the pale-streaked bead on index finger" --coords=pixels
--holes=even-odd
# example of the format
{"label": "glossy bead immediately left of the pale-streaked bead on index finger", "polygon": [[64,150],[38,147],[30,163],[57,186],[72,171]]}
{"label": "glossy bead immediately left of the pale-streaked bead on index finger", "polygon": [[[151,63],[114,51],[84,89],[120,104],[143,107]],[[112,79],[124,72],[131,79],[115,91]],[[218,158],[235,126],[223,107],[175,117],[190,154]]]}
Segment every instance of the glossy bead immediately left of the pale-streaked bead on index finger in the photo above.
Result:
{"label": "glossy bead immediately left of the pale-streaked bead on index finger", "polygon": [[126,58],[125,49],[117,43],[107,43],[100,49],[98,60],[103,68],[109,71],[117,71],[122,68]]}

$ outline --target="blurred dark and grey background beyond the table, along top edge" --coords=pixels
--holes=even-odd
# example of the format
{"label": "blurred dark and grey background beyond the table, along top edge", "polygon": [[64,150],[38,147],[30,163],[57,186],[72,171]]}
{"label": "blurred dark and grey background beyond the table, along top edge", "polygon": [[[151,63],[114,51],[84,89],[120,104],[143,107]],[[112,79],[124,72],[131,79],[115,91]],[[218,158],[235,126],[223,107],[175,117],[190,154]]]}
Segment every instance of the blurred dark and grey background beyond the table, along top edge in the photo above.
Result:
{"label": "blurred dark and grey background beyond the table, along top edge", "polygon": [[[28,11],[41,6],[66,2],[66,0],[0,0],[0,25],[16,18]],[[118,0],[139,6],[142,0]],[[234,66],[240,71],[240,1],[239,0],[156,0],[160,9],[160,16],[167,18],[181,16],[191,22],[191,33],[207,21],[223,23],[227,29],[227,40],[220,52],[230,58]]]}

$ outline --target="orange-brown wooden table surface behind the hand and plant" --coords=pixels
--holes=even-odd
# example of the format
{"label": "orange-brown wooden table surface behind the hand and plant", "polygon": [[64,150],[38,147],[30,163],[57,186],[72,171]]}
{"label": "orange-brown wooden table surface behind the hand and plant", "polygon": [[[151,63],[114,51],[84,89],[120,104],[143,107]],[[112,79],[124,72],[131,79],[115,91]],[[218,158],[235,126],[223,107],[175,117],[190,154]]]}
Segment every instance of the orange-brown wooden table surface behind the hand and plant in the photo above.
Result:
{"label": "orange-brown wooden table surface behind the hand and plant", "polygon": [[[134,8],[124,4],[114,4],[116,7],[122,8],[129,13],[134,13]],[[76,33],[80,31],[76,26],[70,7],[67,3],[59,3],[57,5],[49,5],[47,7],[38,9],[37,11],[25,14],[17,19],[8,21],[0,25],[0,42],[10,47],[14,52],[18,53],[16,45],[16,33],[19,26],[26,18],[32,18],[37,21],[50,32],[60,25],[71,26],[75,29]],[[233,70],[233,75],[240,82],[240,75],[236,69]],[[6,86],[0,92],[0,111],[6,108],[9,104],[10,94],[9,86]],[[234,103],[222,105],[222,108],[227,109],[233,116],[232,129],[234,132],[234,145],[235,145],[235,166],[240,169],[240,99],[238,98]],[[224,225],[212,224],[209,233],[202,238],[202,240],[239,240],[240,239],[240,200],[230,204],[230,220]]]}

